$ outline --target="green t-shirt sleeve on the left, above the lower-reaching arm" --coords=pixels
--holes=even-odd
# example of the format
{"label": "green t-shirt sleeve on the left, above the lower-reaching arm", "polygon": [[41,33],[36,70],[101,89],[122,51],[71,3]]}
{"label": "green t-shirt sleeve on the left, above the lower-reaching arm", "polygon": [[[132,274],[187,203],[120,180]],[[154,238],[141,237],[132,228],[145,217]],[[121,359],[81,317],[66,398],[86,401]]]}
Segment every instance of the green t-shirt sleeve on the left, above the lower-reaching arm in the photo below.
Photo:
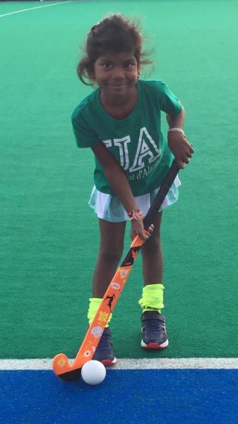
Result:
{"label": "green t-shirt sleeve on the left, above the lower-reaching arm", "polygon": [[88,125],[81,113],[73,112],[72,117],[73,133],[79,148],[93,147],[100,143],[100,138]]}

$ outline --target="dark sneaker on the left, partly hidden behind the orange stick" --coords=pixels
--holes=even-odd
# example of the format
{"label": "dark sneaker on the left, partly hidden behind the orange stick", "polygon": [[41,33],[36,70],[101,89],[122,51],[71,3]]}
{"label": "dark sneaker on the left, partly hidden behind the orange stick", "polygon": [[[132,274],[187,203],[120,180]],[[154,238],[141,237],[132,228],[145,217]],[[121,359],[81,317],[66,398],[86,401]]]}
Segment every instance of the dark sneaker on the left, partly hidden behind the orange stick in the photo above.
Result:
{"label": "dark sneaker on the left, partly hidden behind the orange stick", "polygon": [[100,342],[97,345],[93,359],[99,360],[106,367],[111,367],[117,363],[117,358],[113,353],[111,331],[109,327],[103,330],[102,337],[100,338]]}

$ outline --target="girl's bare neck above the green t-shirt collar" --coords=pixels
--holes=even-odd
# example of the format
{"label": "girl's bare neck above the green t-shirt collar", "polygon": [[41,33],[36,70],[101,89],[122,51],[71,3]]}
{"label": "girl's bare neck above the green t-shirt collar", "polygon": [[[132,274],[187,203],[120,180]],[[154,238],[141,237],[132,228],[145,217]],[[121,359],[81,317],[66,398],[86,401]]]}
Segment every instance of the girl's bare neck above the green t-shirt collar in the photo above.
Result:
{"label": "girl's bare neck above the green t-shirt collar", "polygon": [[110,98],[105,96],[103,91],[100,92],[102,107],[104,107],[106,112],[114,119],[125,119],[128,117],[136,106],[137,99],[138,92],[136,86],[124,96],[117,95]]}

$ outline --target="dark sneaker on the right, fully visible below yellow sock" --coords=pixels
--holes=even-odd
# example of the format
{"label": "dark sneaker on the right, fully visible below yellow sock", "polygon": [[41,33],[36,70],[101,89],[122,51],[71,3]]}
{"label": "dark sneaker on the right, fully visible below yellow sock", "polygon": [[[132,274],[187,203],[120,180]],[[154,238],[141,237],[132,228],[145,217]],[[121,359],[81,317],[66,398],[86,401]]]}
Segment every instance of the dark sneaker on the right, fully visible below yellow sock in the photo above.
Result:
{"label": "dark sneaker on the right, fully visible below yellow sock", "polygon": [[165,329],[165,317],[157,311],[146,311],[141,315],[141,331],[144,349],[165,349],[169,341]]}

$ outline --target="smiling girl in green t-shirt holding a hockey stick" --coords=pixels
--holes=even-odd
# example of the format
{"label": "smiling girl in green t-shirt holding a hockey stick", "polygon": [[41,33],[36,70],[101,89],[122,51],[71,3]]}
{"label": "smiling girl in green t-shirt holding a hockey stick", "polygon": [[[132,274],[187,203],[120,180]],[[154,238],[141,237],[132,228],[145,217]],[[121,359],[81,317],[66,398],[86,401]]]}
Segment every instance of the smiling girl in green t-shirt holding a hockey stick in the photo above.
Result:
{"label": "smiling girl in green t-shirt holding a hockey stick", "polygon": [[[107,290],[121,259],[126,220],[131,238],[147,240],[141,249],[144,287],[141,346],[168,346],[163,305],[162,209],[177,201],[179,179],[175,179],[154,225],[143,232],[147,213],[158,187],[172,163],[189,163],[194,150],[183,131],[184,108],[160,80],[139,79],[141,66],[151,63],[142,52],[142,36],[135,23],[119,14],[94,25],[88,34],[85,57],[78,76],[98,88],[84,98],[72,114],[78,147],[90,147],[95,155],[95,186],[89,205],[100,227],[100,251],[93,276],[93,298],[89,322]],[[88,79],[88,81],[85,80]],[[160,131],[160,111],[167,114],[168,143]],[[105,365],[117,362],[109,326],[102,334],[94,359]]]}

